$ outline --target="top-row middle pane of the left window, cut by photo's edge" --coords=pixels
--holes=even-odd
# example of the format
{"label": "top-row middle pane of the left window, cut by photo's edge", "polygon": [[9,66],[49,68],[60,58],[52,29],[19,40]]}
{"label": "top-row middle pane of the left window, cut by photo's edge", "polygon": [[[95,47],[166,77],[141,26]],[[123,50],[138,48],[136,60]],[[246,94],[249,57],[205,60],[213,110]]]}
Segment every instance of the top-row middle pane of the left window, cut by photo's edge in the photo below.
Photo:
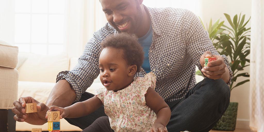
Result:
{"label": "top-row middle pane of the left window, cut by photo's edge", "polygon": [[32,0],[33,13],[48,13],[48,0]]}

